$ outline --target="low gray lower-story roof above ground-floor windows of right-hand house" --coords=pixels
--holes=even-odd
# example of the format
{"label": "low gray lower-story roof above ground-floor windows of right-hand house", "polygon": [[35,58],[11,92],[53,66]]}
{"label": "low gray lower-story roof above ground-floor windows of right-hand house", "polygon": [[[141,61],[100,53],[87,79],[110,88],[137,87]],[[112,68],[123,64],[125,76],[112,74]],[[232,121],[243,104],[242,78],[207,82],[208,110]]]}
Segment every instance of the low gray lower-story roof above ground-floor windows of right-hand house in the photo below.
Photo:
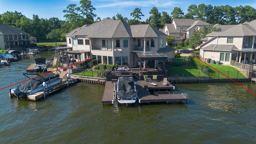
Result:
{"label": "low gray lower-story roof above ground-floor windows of right-hand house", "polygon": [[203,50],[218,50],[218,51],[231,51],[231,50],[238,50],[238,48],[235,45],[226,45],[226,44],[210,44],[209,46],[206,46],[202,48]]}

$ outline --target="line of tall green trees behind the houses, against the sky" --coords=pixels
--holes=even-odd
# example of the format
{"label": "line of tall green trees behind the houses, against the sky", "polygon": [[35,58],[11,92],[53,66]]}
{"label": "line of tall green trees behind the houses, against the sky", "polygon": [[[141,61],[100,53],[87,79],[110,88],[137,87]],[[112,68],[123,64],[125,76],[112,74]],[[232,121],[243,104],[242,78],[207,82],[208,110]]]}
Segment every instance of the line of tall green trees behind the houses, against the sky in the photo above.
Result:
{"label": "line of tall green trees behind the houses, against the sky", "polygon": [[[33,15],[32,19],[27,18],[21,12],[5,12],[0,14],[0,24],[9,24],[24,32],[28,32],[32,39],[37,39],[38,42],[56,42],[65,41],[65,34],[81,27],[84,24],[92,24],[97,22],[100,17],[96,18],[93,11],[96,10],[91,5],[90,0],[80,0],[80,7],[76,4],[69,4],[64,12],[65,20],[52,17],[49,19],[39,18],[38,15]],[[251,6],[211,6],[192,4],[188,7],[188,13],[184,14],[181,8],[175,7],[169,15],[167,12],[159,12],[156,7],[153,7],[149,14],[150,17],[146,21],[141,21],[142,14],[140,8],[135,8],[130,15],[132,19],[123,17],[121,14],[112,16],[115,20],[123,20],[128,24],[150,24],[155,28],[164,28],[166,23],[171,23],[172,19],[191,18],[193,20],[202,20],[209,24],[240,24],[250,22],[256,19],[256,9]],[[94,20],[96,18],[96,20]]]}

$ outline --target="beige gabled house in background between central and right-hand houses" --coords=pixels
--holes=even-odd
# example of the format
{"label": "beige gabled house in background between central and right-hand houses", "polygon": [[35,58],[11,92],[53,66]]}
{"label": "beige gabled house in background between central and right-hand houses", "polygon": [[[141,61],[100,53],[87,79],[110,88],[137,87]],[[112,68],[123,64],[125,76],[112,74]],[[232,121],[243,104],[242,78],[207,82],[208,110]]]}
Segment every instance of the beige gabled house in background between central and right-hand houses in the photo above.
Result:
{"label": "beige gabled house in background between central and right-hand houses", "polygon": [[177,45],[178,42],[184,42],[187,38],[192,36],[193,30],[196,28],[202,28],[209,23],[202,20],[188,19],[173,19],[171,24],[165,24],[164,32],[166,35],[173,35],[175,37],[173,45]]}

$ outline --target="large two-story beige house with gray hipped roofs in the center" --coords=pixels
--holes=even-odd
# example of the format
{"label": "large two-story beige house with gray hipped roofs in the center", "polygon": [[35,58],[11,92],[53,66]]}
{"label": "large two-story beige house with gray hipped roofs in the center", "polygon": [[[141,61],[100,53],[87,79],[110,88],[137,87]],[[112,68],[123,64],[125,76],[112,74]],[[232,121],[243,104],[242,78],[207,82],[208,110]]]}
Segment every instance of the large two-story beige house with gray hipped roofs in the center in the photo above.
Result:
{"label": "large two-story beige house with gray hipped roofs in the center", "polygon": [[128,25],[122,20],[105,18],[69,32],[66,41],[72,51],[80,52],[75,57],[80,60],[92,58],[104,64],[158,68],[168,58],[158,53],[166,48],[166,37],[149,24]]}

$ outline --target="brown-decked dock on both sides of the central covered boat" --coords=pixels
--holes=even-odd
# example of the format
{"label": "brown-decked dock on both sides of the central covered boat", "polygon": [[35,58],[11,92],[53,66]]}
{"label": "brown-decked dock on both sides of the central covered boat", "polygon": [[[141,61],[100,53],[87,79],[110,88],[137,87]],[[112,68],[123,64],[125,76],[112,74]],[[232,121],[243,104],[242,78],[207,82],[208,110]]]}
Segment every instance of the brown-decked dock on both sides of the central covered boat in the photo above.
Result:
{"label": "brown-decked dock on both sides of the central covered boat", "polygon": [[[156,84],[156,85],[155,85]],[[146,80],[139,80],[136,85],[138,90],[139,103],[151,103],[151,102],[188,102],[188,95],[184,94],[163,94],[158,90],[173,90],[173,86],[170,82],[166,86],[162,86],[162,81],[154,81],[154,85],[148,83]],[[150,91],[156,91],[151,94]],[[107,81],[105,84],[105,90],[102,97],[102,104],[114,104],[114,83]]]}

